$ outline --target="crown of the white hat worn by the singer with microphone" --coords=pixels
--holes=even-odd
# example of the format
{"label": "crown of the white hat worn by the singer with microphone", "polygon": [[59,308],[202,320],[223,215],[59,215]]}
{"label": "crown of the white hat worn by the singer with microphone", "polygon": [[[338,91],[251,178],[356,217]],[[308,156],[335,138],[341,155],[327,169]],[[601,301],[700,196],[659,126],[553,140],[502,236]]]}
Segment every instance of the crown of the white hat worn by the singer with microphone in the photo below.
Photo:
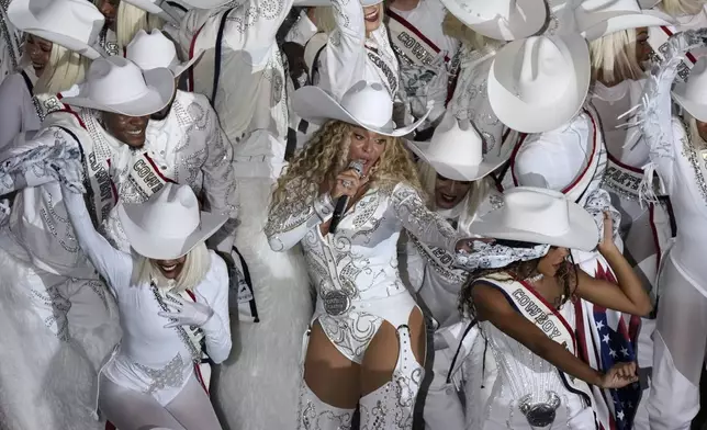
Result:
{"label": "crown of the white hat worn by the singer with microphone", "polygon": [[359,81],[341,97],[341,108],[361,124],[385,127],[393,118],[393,100],[380,83]]}

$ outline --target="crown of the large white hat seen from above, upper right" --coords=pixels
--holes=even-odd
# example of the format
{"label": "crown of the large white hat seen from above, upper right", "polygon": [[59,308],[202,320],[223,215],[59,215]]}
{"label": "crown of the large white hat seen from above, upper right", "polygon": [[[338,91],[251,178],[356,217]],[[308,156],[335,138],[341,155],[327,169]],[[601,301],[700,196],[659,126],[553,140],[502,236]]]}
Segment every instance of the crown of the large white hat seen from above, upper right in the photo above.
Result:
{"label": "crown of the large white hat seen from above, upper right", "polygon": [[558,100],[574,75],[562,41],[534,36],[517,43],[524,46],[514,64],[514,81],[504,86],[525,103],[547,105]]}

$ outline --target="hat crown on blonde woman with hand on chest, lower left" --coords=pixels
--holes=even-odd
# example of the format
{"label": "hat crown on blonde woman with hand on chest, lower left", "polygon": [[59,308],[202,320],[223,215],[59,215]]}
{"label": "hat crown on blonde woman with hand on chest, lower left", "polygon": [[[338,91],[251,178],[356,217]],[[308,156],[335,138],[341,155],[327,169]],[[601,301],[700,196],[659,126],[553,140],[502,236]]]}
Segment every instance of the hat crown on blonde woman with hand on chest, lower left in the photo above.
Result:
{"label": "hat crown on blonde woman with hand on chest, lower left", "polygon": [[133,222],[155,237],[183,239],[199,228],[199,201],[189,185],[168,182],[143,206]]}

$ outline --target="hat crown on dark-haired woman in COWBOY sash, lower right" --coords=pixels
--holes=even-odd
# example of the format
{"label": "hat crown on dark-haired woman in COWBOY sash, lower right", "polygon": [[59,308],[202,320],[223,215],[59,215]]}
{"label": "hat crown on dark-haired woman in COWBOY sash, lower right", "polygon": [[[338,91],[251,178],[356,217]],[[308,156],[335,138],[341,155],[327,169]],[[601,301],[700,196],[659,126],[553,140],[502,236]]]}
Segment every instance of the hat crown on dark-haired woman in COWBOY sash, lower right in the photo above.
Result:
{"label": "hat crown on dark-haired woman in COWBOY sash, lower right", "polygon": [[570,230],[570,204],[561,192],[517,186],[504,194],[501,217],[505,226],[548,237]]}

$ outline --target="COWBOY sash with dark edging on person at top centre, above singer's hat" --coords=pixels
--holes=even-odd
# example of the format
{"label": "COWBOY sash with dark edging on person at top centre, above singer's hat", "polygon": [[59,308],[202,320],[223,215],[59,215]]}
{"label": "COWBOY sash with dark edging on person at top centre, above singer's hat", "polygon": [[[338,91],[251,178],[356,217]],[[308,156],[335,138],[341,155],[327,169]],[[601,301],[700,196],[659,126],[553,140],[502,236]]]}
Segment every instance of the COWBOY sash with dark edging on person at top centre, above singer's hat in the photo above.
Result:
{"label": "COWBOY sash with dark edging on person at top centre, above singer's hat", "polygon": [[[391,9],[386,9],[385,14],[390,18],[391,45],[399,58],[408,65],[426,66],[437,57],[440,49],[413,24]],[[445,56],[445,60],[449,61],[449,57]]]}

